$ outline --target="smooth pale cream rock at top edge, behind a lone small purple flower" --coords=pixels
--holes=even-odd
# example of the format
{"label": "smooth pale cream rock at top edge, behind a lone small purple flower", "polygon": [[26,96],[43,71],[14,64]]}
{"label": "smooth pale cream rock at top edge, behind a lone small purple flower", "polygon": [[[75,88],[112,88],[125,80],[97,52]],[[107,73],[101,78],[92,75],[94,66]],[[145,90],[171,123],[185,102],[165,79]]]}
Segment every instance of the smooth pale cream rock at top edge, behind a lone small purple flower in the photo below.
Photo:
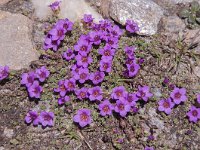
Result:
{"label": "smooth pale cream rock at top edge, behind a lone small purple flower", "polygon": [[[54,1],[55,0],[32,0],[35,8],[35,15],[40,19],[47,19],[53,14],[49,5]],[[96,22],[102,19],[102,16],[85,0],[62,0],[60,3],[59,18],[68,18],[71,21],[77,21],[82,19],[84,14],[92,14]]]}

